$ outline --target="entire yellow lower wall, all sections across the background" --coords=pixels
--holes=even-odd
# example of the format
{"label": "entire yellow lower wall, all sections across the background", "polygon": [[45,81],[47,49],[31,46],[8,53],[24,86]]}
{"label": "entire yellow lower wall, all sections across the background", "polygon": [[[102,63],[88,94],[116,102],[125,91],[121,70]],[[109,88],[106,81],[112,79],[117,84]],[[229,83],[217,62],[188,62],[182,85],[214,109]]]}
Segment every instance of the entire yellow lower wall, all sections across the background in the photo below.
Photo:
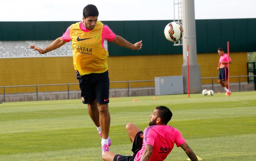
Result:
{"label": "entire yellow lower wall, all sections across the background", "polygon": [[[247,75],[247,52],[230,53],[232,64],[230,76]],[[109,56],[110,81],[154,80],[155,76],[181,75],[183,56],[179,55],[145,55],[145,56]],[[217,77],[219,55],[197,54],[201,77]],[[246,78],[241,79],[247,81]],[[238,79],[231,79],[238,82]],[[42,85],[59,83],[78,83],[72,64],[72,57],[46,58],[9,58],[0,59],[0,86]],[[202,80],[202,83],[211,81]],[[214,81],[217,83],[217,80]],[[154,82],[130,83],[134,86],[154,86]],[[127,83],[111,83],[111,88],[126,88]],[[66,86],[39,87],[39,91],[67,90]],[[8,90],[6,89],[7,93]],[[17,91],[15,91],[17,90]],[[13,88],[19,92],[24,89]],[[78,85],[70,86],[70,90],[79,90]],[[27,87],[27,92],[35,92],[35,88]],[[0,90],[0,93],[1,90]]]}

